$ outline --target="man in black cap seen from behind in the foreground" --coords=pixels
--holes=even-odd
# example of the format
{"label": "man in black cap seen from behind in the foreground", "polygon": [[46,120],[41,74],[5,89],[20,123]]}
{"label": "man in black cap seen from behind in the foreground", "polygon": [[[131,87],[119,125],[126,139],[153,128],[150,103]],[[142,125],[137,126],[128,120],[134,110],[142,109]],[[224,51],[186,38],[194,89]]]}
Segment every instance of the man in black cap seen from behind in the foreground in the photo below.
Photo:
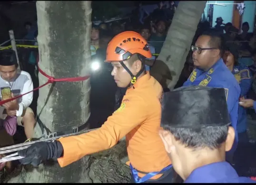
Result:
{"label": "man in black cap seen from behind in the foreground", "polygon": [[239,177],[225,161],[235,139],[225,89],[190,86],[165,93],[161,127],[173,168],[185,183],[256,182]]}

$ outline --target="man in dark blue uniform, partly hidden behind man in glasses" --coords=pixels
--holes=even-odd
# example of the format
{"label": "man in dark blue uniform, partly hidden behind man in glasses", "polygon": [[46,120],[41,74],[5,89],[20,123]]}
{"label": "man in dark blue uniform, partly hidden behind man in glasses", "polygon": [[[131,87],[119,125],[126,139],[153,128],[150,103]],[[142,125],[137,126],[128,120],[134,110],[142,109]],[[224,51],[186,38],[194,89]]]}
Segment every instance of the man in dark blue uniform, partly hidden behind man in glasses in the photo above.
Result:
{"label": "man in dark blue uniform, partly hidden behind man in glasses", "polygon": [[[229,44],[225,48],[225,54],[223,60],[227,68],[234,74],[236,81],[239,83],[241,88],[240,98],[246,98],[252,85],[252,75],[246,65],[238,64],[238,46],[235,44]],[[238,121],[237,121],[237,132],[239,143],[246,143],[249,141],[247,136],[247,115],[246,109],[242,106],[238,106]]]}

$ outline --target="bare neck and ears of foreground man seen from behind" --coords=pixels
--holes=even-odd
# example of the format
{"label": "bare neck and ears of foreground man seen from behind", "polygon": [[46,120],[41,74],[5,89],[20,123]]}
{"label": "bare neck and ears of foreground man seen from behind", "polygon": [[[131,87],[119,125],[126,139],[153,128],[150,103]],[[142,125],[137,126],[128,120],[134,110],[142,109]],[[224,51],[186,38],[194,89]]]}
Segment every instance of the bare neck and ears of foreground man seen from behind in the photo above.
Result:
{"label": "bare neck and ears of foreground man seen from behind", "polygon": [[225,161],[226,151],[232,148],[235,140],[235,130],[233,127],[229,127],[226,141],[215,149],[187,147],[175,139],[174,135],[168,130],[159,130],[159,136],[164,143],[168,157],[172,161],[174,170],[185,180],[197,167]]}

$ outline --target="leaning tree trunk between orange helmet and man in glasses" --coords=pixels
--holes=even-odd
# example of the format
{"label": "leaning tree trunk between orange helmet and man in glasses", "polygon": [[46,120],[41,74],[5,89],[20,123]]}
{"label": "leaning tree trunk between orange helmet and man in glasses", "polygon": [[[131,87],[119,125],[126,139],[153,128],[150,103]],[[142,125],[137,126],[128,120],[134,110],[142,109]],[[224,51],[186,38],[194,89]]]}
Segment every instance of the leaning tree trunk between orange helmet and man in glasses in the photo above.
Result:
{"label": "leaning tree trunk between orange helmet and man in glasses", "polygon": [[150,74],[172,90],[183,69],[207,1],[180,1],[166,40]]}

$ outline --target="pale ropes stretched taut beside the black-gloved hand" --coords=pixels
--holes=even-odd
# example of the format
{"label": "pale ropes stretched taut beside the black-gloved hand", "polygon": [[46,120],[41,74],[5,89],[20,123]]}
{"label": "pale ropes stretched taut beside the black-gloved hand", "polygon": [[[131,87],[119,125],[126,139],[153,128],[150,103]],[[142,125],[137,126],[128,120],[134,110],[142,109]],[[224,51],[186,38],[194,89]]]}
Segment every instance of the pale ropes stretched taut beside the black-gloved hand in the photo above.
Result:
{"label": "pale ropes stretched taut beside the black-gloved hand", "polygon": [[[81,132],[65,134],[65,135],[62,135],[62,136],[56,136],[56,137],[52,137],[52,138],[48,138],[48,139],[44,139],[43,138],[41,140],[30,141],[30,142],[25,142],[25,143],[17,144],[17,145],[11,145],[11,146],[8,146],[8,147],[3,147],[3,148],[0,148],[0,154],[7,154],[7,153],[11,153],[11,152],[16,152],[16,151],[19,151],[19,150],[22,150],[22,149],[29,148],[30,145],[32,145],[34,143],[50,142],[50,141],[55,140],[55,139],[59,139],[59,138],[63,138],[63,137],[68,137],[68,136],[74,136],[74,135],[86,133],[86,132],[89,132],[89,131],[92,131],[92,130],[96,130],[96,129],[84,130],[84,131],[81,131]],[[0,158],[0,163],[8,162],[8,161],[13,161],[13,160],[18,160],[18,159],[21,159],[21,158],[23,158],[23,157],[18,156],[18,152],[16,152],[14,154],[10,154],[8,156]]]}

